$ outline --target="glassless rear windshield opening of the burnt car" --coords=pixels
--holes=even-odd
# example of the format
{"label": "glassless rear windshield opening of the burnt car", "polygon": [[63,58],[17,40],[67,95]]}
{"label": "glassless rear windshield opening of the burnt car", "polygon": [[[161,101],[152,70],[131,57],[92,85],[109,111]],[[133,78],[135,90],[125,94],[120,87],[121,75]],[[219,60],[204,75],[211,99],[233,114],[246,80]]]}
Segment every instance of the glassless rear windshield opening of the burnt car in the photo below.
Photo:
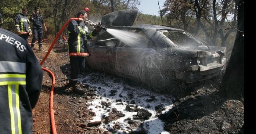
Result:
{"label": "glassless rear windshield opening of the burnt car", "polygon": [[159,30],[158,32],[162,33],[171,42],[181,48],[186,47],[198,47],[200,45],[204,45],[199,39],[193,37],[191,34],[187,32],[180,32],[180,31],[168,31],[168,30]]}

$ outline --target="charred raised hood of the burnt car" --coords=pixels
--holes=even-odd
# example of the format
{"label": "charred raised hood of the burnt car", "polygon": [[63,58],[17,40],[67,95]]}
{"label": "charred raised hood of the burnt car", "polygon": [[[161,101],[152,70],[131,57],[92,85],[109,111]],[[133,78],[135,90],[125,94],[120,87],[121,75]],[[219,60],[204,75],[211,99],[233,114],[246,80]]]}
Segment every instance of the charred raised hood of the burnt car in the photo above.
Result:
{"label": "charred raised hood of the burnt car", "polygon": [[104,15],[101,19],[103,27],[110,28],[113,26],[132,26],[138,10],[128,9],[120,10]]}

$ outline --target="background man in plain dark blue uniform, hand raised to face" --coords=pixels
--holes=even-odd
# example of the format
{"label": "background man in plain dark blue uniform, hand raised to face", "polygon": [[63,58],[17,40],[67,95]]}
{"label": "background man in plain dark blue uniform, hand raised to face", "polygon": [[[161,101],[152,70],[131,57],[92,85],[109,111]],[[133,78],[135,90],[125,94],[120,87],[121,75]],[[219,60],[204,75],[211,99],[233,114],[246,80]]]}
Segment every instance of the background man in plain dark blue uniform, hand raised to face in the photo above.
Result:
{"label": "background man in plain dark blue uniform, hand raised to face", "polygon": [[35,40],[38,37],[39,51],[42,51],[43,26],[45,32],[47,32],[47,28],[45,26],[43,16],[39,11],[39,7],[35,7],[35,12],[31,14],[29,20],[33,22],[33,39],[31,43],[31,48],[35,46]]}

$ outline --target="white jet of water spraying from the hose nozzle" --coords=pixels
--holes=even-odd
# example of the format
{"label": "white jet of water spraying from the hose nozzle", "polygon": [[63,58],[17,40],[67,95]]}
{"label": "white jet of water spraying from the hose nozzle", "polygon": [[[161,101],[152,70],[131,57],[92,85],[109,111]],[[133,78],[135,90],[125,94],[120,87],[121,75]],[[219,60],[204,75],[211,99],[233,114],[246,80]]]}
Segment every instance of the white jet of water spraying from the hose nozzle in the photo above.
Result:
{"label": "white jet of water spraying from the hose nozzle", "polygon": [[123,42],[124,46],[122,47],[147,47],[148,40],[139,33],[110,28],[107,29],[107,32]]}

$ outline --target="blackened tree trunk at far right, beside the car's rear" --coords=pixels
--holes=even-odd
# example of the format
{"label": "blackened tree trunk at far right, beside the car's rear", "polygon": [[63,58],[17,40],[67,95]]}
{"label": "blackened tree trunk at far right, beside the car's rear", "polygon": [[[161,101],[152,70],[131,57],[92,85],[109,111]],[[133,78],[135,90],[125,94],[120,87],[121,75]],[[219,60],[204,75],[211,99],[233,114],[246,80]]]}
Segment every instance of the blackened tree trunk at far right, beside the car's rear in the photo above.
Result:
{"label": "blackened tree trunk at far right, beside the car's rear", "polygon": [[[237,12],[237,29],[244,31],[244,0],[239,0]],[[244,97],[244,33],[240,31],[237,31],[226,73],[219,88],[221,95],[226,99]]]}

